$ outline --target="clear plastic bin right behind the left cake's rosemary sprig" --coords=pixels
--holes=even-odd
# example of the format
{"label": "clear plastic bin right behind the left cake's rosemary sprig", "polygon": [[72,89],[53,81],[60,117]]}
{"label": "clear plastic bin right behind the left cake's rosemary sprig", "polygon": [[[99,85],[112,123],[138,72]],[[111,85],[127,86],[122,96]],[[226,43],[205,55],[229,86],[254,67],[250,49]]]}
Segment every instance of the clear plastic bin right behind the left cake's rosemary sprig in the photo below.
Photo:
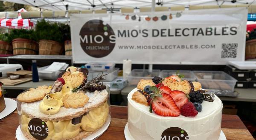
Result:
{"label": "clear plastic bin right behind the left cake's rosemary sprig", "polygon": [[103,75],[108,73],[108,75],[103,77],[103,78],[105,78],[105,80],[103,80],[103,81],[113,81],[115,78],[117,78],[118,71],[119,71],[119,68],[115,68],[112,72],[102,72],[102,71],[99,72],[99,71],[90,71],[89,70],[87,79],[90,81],[93,78],[95,78],[96,76],[100,76],[102,73],[103,73]]}

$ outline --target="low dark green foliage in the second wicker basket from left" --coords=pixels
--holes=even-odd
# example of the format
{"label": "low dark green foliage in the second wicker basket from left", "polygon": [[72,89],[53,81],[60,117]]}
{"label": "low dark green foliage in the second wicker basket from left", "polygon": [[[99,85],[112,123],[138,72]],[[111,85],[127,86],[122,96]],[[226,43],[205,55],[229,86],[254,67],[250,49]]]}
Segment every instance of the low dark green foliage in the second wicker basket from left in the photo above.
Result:
{"label": "low dark green foliage in the second wicker basket from left", "polygon": [[17,39],[17,38],[30,39],[30,40],[38,41],[34,30],[12,29],[9,33],[9,37],[8,37],[7,42],[12,42],[13,39]]}

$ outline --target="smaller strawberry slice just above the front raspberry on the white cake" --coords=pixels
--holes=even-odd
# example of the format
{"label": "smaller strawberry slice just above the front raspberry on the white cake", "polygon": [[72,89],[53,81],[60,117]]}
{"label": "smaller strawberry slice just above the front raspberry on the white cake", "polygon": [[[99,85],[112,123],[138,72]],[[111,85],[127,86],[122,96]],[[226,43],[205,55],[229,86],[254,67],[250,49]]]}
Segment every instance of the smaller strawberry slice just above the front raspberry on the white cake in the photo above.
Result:
{"label": "smaller strawberry slice just above the front raspberry on the white cake", "polygon": [[189,101],[186,94],[180,90],[173,90],[169,95],[172,96],[179,109]]}

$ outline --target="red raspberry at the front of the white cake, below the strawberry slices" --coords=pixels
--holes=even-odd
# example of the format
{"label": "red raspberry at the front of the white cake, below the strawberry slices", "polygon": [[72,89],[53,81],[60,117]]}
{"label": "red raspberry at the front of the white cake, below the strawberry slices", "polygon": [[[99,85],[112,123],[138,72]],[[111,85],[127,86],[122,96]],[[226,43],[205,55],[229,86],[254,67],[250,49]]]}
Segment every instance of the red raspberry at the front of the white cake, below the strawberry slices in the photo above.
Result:
{"label": "red raspberry at the front of the white cake, below the strawberry slices", "polygon": [[181,115],[186,117],[195,117],[198,114],[192,102],[186,102],[186,104],[181,107],[180,112]]}

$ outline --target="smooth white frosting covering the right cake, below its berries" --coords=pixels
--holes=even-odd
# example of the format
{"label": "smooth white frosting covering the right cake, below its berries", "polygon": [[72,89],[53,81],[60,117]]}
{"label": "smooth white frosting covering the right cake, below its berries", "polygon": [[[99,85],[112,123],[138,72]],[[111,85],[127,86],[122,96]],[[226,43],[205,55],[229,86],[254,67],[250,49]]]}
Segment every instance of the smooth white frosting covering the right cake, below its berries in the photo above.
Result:
{"label": "smooth white frosting covering the right cake, below its berries", "polygon": [[[221,132],[222,102],[215,95],[213,102],[203,101],[202,112],[189,118],[162,117],[149,112],[149,106],[131,99],[135,88],[128,94],[128,128],[135,140],[161,140],[164,130],[179,127],[187,132],[189,140],[218,140]],[[168,138],[166,140],[169,140]],[[172,140],[172,139],[171,139]]]}

